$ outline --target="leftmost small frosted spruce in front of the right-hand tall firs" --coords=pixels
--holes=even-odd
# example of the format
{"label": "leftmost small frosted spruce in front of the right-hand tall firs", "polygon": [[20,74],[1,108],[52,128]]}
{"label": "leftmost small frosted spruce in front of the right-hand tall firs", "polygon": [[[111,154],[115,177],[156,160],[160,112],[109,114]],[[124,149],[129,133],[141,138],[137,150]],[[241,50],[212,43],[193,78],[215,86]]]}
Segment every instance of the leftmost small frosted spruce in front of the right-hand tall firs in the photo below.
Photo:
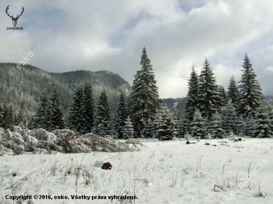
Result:
{"label": "leftmost small frosted spruce in front of the right-hand tall firs", "polygon": [[206,136],[205,122],[199,109],[195,111],[193,122],[191,123],[192,137],[201,137],[204,139]]}

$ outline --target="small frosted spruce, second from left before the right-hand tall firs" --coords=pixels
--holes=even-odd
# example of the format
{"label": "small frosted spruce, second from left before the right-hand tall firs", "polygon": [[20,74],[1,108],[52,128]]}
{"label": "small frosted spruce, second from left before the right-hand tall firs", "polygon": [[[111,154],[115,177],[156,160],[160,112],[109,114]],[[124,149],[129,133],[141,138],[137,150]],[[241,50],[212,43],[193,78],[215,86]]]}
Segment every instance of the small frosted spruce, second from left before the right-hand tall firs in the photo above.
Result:
{"label": "small frosted spruce, second from left before the right-hand tall firs", "polygon": [[212,138],[224,138],[224,131],[221,128],[221,115],[216,111],[209,121],[209,133]]}

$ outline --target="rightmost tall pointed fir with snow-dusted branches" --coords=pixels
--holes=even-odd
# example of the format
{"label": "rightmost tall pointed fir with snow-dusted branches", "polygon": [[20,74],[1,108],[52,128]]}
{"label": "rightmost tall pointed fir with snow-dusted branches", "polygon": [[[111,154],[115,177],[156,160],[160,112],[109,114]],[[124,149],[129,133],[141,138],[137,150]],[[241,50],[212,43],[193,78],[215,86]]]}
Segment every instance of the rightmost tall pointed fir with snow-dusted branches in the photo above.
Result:
{"label": "rightmost tall pointed fir with snow-dusted branches", "polygon": [[236,98],[236,111],[243,118],[248,118],[250,113],[255,113],[260,104],[265,104],[264,96],[260,84],[255,79],[256,74],[252,68],[251,61],[247,54],[244,57],[243,74],[241,85],[239,85],[239,94]]}

